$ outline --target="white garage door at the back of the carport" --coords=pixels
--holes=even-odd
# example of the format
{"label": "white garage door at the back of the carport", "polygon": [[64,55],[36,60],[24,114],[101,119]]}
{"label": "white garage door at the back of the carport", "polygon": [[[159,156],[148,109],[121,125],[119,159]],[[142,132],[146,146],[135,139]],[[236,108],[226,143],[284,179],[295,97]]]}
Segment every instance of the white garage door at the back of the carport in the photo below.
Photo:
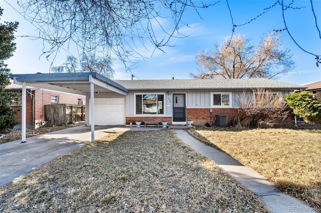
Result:
{"label": "white garage door at the back of the carport", "polygon": [[125,98],[95,98],[95,125],[125,125]]}

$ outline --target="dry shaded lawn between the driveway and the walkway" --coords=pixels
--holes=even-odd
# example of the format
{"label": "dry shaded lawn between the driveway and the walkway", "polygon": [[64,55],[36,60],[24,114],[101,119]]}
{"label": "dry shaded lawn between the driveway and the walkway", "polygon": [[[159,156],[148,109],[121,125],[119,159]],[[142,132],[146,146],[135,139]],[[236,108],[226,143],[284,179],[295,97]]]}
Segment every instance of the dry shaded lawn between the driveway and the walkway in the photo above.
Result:
{"label": "dry shaded lawn between the driveway and the walkway", "polygon": [[269,212],[173,130],[109,134],[0,188],[1,212]]}

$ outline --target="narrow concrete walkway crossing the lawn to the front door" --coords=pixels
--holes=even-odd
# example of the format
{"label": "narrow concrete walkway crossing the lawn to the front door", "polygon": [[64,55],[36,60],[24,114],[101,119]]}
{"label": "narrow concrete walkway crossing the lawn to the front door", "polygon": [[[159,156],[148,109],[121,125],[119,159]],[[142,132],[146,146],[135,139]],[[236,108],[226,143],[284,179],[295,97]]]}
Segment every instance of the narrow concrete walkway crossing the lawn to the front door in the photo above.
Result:
{"label": "narrow concrete walkway crossing the lawn to the front door", "polygon": [[273,212],[316,212],[303,201],[280,192],[264,176],[244,166],[230,155],[206,145],[191,136],[186,130],[175,130],[176,135],[191,148],[214,160],[244,187],[257,194]]}

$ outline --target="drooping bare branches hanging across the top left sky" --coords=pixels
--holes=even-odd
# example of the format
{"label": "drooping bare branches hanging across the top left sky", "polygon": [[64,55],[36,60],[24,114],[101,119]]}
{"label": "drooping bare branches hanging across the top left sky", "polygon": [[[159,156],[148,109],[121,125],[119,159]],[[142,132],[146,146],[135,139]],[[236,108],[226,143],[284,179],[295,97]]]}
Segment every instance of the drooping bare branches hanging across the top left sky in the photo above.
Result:
{"label": "drooping bare branches hanging across the top left sky", "polygon": [[[39,38],[49,43],[43,54],[49,57],[59,48],[76,45],[86,55],[120,59],[129,68],[133,58],[168,46],[179,32],[183,14],[215,4],[196,0],[22,0],[24,16],[39,26]],[[165,15],[164,15],[165,14]],[[164,20],[171,23],[164,24]],[[152,46],[149,45],[150,42]]]}

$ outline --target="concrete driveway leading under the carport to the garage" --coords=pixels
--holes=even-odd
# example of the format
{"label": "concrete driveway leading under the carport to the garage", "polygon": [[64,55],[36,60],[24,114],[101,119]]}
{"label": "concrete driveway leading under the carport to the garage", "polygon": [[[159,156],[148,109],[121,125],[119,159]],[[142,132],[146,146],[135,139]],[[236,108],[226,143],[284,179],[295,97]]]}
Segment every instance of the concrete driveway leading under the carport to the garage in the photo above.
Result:
{"label": "concrete driveway leading under the carport to the garage", "polygon": [[[75,126],[27,137],[26,143],[15,140],[0,144],[0,186],[90,142],[90,128]],[[95,139],[109,132],[126,130],[133,129],[125,126],[95,126]]]}

